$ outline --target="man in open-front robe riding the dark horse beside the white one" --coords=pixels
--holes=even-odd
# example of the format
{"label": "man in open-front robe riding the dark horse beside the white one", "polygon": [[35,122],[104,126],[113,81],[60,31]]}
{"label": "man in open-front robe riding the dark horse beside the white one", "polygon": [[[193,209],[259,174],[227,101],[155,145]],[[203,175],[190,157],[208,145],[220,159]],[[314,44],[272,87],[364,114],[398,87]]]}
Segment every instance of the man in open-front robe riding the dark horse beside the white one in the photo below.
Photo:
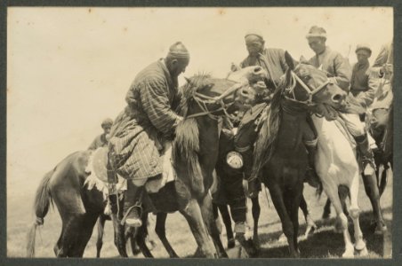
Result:
{"label": "man in open-front robe riding the dark horse beside the white one", "polygon": [[[264,83],[268,90],[262,90],[264,97],[258,97],[253,102],[253,107],[245,112],[245,115],[240,122],[235,137],[235,146],[238,153],[241,153],[244,161],[245,179],[248,181],[248,193],[250,197],[255,197],[258,191],[261,190],[261,184],[257,179],[251,179],[253,170],[253,145],[258,135],[258,124],[261,119],[261,113],[268,106],[271,94],[277,89],[277,85],[281,81],[281,77],[285,74],[286,69],[289,67],[285,61],[285,51],[282,49],[265,48],[265,41],[260,34],[249,33],[245,35],[245,46],[249,55],[241,63],[241,67],[245,66],[261,66],[267,73],[268,77]],[[232,67],[236,69],[236,67]],[[256,83],[253,88],[261,90],[264,83]],[[260,84],[258,86],[258,84]],[[256,86],[257,85],[257,86]],[[314,167],[314,152],[317,144],[317,136],[312,129],[306,129],[306,134],[303,137],[306,148],[310,154],[310,169],[307,173],[307,181],[309,184],[316,186],[318,177]]]}

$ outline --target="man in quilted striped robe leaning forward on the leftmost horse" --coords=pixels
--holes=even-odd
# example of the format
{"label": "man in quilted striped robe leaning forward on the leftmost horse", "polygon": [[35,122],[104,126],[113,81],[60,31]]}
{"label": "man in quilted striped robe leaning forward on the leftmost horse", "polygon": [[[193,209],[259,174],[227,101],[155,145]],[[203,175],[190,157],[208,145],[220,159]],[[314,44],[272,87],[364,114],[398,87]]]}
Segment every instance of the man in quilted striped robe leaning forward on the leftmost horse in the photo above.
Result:
{"label": "man in quilted striped robe leaning forward on the leftmost horse", "polygon": [[108,175],[127,179],[123,222],[141,226],[141,200],[149,178],[164,174],[166,145],[182,117],[178,76],[189,65],[189,51],[173,43],[165,59],[159,59],[137,74],[127,92],[125,110],[117,116],[109,141]]}

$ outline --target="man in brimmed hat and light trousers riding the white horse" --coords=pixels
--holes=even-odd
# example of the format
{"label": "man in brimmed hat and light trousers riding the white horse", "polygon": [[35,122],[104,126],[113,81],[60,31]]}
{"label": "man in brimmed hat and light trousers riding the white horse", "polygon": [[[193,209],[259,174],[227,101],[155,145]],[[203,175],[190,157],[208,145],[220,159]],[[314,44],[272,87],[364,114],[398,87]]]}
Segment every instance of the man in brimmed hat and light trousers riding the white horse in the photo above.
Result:
{"label": "man in brimmed hat and light trousers riding the white horse", "polygon": [[[342,90],[349,92],[352,74],[350,64],[339,52],[333,51],[326,46],[326,30],[323,27],[313,26],[310,28],[306,38],[311,50],[316,53],[309,60],[310,64],[322,68],[322,70],[326,71],[330,80],[338,84]],[[360,121],[358,115],[365,112],[361,106],[361,101],[359,102],[353,95],[349,95],[348,105],[338,111],[340,111],[340,118],[345,122],[350,134],[356,140],[358,150],[364,162],[365,174],[371,175],[375,168],[374,157],[368,144],[365,125]]]}

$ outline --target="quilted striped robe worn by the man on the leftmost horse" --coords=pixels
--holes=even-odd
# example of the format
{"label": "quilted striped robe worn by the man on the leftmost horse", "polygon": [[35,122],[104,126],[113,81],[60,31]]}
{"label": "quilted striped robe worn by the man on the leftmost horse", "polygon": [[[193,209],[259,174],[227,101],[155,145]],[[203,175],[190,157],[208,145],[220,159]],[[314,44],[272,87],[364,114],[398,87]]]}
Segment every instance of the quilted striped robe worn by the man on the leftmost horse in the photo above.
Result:
{"label": "quilted striped robe worn by the man on the leftmost horse", "polygon": [[144,179],[162,173],[160,155],[179,121],[173,112],[180,102],[177,84],[163,59],[135,77],[125,97],[127,106],[110,131],[111,161],[120,176]]}

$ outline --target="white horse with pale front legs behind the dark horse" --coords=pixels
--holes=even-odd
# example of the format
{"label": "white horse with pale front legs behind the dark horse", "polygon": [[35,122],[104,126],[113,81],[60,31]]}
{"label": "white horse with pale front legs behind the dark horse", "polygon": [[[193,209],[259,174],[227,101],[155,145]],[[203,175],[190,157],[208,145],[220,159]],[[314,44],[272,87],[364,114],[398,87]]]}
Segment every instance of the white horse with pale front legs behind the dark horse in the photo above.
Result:
{"label": "white horse with pale front legs behind the dark horse", "polygon": [[[312,115],[312,120],[318,131],[318,147],[316,155],[316,170],[323,184],[326,195],[334,204],[337,218],[342,224],[345,252],[342,257],[353,257],[354,251],[360,255],[367,254],[366,242],[360,230],[358,216],[358,185],[360,167],[356,157],[356,145],[348,139],[348,132],[338,126],[338,121],[327,121],[325,118]],[[350,189],[350,217],[355,231],[355,245],[350,240],[348,218],[343,213],[342,203],[338,195],[340,185]]]}

